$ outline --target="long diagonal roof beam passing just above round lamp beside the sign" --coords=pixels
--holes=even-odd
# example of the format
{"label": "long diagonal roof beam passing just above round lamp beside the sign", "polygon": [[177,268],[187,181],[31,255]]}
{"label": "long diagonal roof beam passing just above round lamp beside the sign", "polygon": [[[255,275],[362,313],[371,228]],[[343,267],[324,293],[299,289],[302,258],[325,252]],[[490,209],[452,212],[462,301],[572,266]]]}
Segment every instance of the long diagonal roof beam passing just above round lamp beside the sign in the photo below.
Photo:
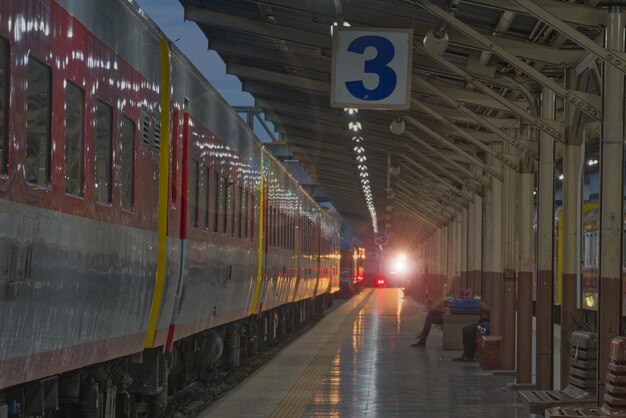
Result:
{"label": "long diagonal roof beam passing just above round lamp beside the sign", "polygon": [[[408,0],[404,0],[405,2]],[[460,19],[452,16],[439,6],[435,5],[429,0],[415,0],[423,9],[437,16],[447,24],[456,27],[472,39],[476,40],[482,48],[493,52],[500,58],[508,61],[518,70],[526,73],[533,78],[539,84],[546,86],[553,90],[556,94],[561,96],[564,100],[572,103],[579,108],[582,112],[588,114],[592,118],[600,119],[602,114],[600,111],[600,97],[597,95],[591,95],[577,90],[566,89],[559,83],[543,75],[540,71],[536,70],[517,55],[511,52],[510,48],[504,48],[499,43],[494,42],[493,39],[482,35],[468,24],[462,22]]]}

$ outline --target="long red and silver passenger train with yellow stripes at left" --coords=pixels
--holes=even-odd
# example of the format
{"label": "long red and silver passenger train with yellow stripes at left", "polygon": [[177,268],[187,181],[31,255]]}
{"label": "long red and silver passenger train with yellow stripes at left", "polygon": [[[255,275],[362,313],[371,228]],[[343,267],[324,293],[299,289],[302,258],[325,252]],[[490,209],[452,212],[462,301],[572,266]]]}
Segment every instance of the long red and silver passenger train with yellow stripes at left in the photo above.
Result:
{"label": "long red and silver passenger train with yellow stripes at left", "polygon": [[0,417],[158,416],[339,290],[320,207],[132,0],[0,7]]}

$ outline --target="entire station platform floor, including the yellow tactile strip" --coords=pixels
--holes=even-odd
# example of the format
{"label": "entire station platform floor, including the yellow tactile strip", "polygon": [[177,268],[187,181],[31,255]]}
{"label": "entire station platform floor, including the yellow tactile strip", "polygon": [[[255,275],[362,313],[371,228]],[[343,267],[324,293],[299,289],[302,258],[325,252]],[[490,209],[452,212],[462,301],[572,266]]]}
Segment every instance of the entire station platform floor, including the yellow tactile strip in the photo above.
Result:
{"label": "entire station platform floor, including the yellow tactile strip", "polygon": [[366,289],[199,416],[529,417],[512,375],[456,362],[433,329],[411,347],[425,309],[402,289]]}

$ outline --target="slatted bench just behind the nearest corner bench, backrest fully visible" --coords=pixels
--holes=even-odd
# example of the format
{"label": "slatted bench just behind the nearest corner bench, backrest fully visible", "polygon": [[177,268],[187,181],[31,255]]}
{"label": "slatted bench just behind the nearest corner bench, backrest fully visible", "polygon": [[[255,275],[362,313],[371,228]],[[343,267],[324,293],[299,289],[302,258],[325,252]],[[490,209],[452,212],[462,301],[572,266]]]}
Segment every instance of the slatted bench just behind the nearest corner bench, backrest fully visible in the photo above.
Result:
{"label": "slatted bench just behind the nearest corner bench, backrest fully visible", "polygon": [[595,403],[597,347],[596,334],[574,331],[569,385],[563,390],[520,391],[522,398],[528,402],[530,413],[542,415],[547,408]]}

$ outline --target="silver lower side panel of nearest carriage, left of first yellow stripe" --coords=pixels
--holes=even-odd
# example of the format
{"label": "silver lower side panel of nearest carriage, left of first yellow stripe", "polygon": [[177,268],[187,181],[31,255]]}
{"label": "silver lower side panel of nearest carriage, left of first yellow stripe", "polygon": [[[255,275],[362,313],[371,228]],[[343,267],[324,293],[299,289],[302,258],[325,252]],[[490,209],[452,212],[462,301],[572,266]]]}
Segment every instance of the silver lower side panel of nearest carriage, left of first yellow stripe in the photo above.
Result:
{"label": "silver lower side panel of nearest carriage, left of first yellow stripe", "polygon": [[0,230],[0,388],[142,350],[155,233],[6,200]]}

